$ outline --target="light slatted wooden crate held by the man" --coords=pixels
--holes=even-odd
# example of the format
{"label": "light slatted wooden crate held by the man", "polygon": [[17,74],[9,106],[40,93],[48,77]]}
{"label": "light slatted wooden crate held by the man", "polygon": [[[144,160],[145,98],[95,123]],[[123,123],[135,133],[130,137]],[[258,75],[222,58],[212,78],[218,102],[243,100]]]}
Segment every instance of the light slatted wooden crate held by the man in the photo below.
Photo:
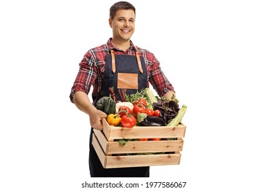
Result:
{"label": "light slatted wooden crate held by the man", "polygon": [[[94,129],[92,145],[104,168],[173,165],[179,164],[181,160],[180,151],[183,148],[182,138],[185,132],[186,126],[183,123],[175,127],[136,126],[128,129],[110,126],[103,119],[103,130]],[[176,140],[129,141],[126,145],[116,141],[128,138],[176,138]],[[130,155],[131,153],[138,155]]]}

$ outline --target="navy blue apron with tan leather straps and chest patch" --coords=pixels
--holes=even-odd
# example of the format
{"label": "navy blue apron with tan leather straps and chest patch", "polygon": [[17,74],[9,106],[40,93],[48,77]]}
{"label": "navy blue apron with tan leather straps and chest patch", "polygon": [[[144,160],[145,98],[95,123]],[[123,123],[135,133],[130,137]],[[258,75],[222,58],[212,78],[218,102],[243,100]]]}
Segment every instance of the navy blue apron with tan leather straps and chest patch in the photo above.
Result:
{"label": "navy blue apron with tan leather straps and chest patch", "polygon": [[[127,78],[127,76],[129,78]],[[128,81],[129,80],[129,81]],[[109,96],[109,87],[114,87],[114,92],[121,100],[118,89],[126,90],[127,94],[136,93],[147,87],[147,66],[144,58],[138,55],[114,55],[105,56],[105,72],[101,93],[94,102],[103,96]],[[92,132],[90,133],[89,168],[91,177],[149,177],[149,166],[130,168],[103,168],[94,147],[92,146]]]}

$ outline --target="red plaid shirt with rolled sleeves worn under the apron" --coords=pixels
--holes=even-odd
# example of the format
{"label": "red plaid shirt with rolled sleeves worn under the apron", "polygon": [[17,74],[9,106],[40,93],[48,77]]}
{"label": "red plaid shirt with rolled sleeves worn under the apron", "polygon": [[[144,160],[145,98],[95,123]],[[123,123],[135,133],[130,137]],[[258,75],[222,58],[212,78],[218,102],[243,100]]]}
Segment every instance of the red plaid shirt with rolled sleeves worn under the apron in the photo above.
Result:
{"label": "red plaid shirt with rolled sleeves worn under the apron", "polygon": [[[112,38],[107,41],[107,44],[88,50],[84,55],[84,58],[79,63],[79,72],[71,88],[71,101],[73,100],[75,92],[84,91],[88,94],[91,86],[93,86],[92,96],[96,98],[97,95],[99,95],[101,83],[104,78],[105,55],[108,54],[110,50],[113,49],[115,55],[136,55],[132,42],[131,46],[124,52],[123,50],[115,48],[111,40]],[[174,91],[173,86],[160,68],[160,62],[157,61],[155,56],[148,50],[137,48],[140,55],[144,57],[144,61],[147,65],[147,87],[149,87],[149,83],[151,83],[160,97],[168,91]]]}

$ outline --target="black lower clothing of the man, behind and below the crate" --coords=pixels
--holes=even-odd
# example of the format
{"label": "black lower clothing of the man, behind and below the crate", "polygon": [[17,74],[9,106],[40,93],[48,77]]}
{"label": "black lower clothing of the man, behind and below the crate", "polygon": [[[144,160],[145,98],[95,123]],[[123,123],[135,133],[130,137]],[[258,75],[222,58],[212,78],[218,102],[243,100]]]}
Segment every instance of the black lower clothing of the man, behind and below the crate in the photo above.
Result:
{"label": "black lower clothing of the man, behind and below the crate", "polygon": [[90,133],[89,169],[91,177],[149,177],[149,166],[130,168],[103,168],[94,147]]}

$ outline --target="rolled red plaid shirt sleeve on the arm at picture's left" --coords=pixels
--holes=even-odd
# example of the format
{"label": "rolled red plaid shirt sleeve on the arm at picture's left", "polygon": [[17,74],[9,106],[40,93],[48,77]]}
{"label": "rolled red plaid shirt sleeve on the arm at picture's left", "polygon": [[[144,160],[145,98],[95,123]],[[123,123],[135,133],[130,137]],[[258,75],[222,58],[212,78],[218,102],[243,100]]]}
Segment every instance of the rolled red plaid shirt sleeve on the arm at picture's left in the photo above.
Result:
{"label": "rolled red plaid shirt sleeve on the arm at picture's left", "polygon": [[79,72],[75,78],[73,87],[71,88],[71,102],[73,102],[73,95],[77,91],[84,91],[86,94],[88,94],[90,87],[92,86],[96,78],[97,64],[89,50],[79,63]]}

